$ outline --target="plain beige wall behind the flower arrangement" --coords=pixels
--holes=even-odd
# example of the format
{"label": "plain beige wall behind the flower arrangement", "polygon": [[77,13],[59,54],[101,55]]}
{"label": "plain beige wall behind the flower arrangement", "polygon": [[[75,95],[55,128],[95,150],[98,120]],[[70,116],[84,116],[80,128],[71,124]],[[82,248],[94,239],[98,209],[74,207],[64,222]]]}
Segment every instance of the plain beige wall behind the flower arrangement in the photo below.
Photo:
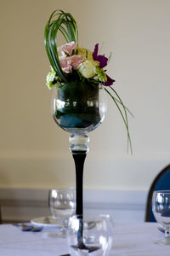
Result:
{"label": "plain beige wall behind the flower arrangement", "polygon": [[[169,163],[170,1],[0,1],[0,187],[74,186],[69,135],[54,124],[43,29],[54,9],[71,12],[79,44],[113,52],[108,73],[135,118],[126,131],[108,99],[105,122],[90,136],[87,189],[148,189]],[[107,175],[106,175],[107,174]]]}

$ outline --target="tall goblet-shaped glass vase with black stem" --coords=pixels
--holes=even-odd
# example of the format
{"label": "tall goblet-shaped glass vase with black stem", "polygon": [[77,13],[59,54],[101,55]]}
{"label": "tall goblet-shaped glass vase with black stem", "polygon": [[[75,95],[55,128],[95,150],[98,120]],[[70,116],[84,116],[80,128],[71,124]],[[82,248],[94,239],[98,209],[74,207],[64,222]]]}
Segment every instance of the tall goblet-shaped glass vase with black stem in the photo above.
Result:
{"label": "tall goblet-shaped glass vase with black stem", "polygon": [[105,119],[105,90],[93,82],[55,86],[52,113],[57,125],[71,133],[70,150],[76,166],[76,214],[83,216],[83,166],[88,153],[88,132],[94,131]]}

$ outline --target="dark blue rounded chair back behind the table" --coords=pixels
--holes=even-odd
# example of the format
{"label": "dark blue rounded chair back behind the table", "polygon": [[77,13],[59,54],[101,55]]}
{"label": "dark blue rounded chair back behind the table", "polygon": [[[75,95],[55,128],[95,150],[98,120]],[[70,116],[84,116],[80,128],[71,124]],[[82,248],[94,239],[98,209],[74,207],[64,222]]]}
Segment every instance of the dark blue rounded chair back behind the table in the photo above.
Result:
{"label": "dark blue rounded chair back behind the table", "polygon": [[146,202],[145,221],[156,222],[156,218],[152,213],[152,195],[156,190],[170,190],[170,165],[165,167],[154,179],[150,186],[148,198]]}

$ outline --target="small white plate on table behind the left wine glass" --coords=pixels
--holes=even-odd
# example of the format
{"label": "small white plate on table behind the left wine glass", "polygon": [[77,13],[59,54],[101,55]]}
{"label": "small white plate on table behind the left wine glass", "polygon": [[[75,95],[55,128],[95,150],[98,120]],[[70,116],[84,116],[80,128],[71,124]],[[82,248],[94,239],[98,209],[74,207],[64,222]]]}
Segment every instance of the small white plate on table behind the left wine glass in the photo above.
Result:
{"label": "small white plate on table behind the left wine glass", "polygon": [[33,218],[31,219],[31,224],[41,226],[41,227],[56,227],[61,226],[59,221],[54,219],[52,216],[48,217],[40,217],[40,218]]}

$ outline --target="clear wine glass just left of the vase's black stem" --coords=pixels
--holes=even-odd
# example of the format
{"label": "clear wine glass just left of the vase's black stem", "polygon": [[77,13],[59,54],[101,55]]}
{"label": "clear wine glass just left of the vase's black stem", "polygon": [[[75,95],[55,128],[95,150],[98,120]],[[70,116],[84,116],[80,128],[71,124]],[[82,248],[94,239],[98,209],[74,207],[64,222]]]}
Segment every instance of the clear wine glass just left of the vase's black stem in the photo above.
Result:
{"label": "clear wine glass just left of the vase's black stem", "polygon": [[61,233],[65,234],[68,218],[75,214],[75,189],[49,189],[48,207],[54,219],[60,225]]}

